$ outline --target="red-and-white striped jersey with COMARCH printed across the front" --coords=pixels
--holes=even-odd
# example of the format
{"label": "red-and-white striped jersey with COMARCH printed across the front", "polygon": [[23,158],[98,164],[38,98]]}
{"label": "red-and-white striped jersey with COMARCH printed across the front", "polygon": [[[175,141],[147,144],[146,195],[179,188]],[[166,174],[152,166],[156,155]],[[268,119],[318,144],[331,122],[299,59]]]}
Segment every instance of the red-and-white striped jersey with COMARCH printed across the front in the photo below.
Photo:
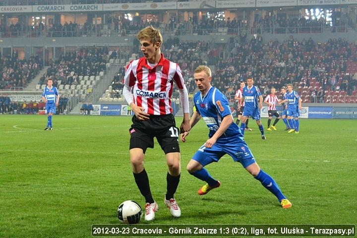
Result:
{"label": "red-and-white striped jersey with COMARCH printed across the front", "polygon": [[171,94],[173,83],[183,89],[181,69],[177,63],[164,58],[153,68],[145,57],[131,61],[125,70],[124,84],[133,88],[134,103],[143,107],[149,115],[167,115],[172,113]]}

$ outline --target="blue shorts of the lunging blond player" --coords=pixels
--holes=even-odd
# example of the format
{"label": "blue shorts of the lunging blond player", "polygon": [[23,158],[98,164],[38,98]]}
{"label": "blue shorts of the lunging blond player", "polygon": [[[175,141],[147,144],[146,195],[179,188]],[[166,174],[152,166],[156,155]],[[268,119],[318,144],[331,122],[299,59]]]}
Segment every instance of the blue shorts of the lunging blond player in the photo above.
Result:
{"label": "blue shorts of the lunging blond player", "polygon": [[249,147],[239,137],[219,139],[212,148],[206,148],[202,145],[192,159],[205,167],[212,162],[218,162],[225,154],[230,155],[234,161],[242,164],[243,168],[255,163]]}

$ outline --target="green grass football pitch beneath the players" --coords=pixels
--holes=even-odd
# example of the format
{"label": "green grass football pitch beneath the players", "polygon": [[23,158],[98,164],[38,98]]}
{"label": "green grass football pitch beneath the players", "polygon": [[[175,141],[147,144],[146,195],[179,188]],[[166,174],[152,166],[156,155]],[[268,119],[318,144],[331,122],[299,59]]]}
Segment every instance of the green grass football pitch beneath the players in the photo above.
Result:
{"label": "green grass football pitch beneath the players", "polygon": [[[90,237],[92,224],[119,223],[122,201],[144,207],[129,162],[129,117],[55,116],[53,131],[43,130],[46,122],[45,116],[0,116],[0,237]],[[254,121],[249,126],[245,139],[257,163],[293,207],[282,209],[228,156],[206,167],[221,187],[198,196],[204,182],[185,167],[207,140],[200,121],[180,143],[179,219],[163,203],[164,153],[156,140],[147,150],[145,168],[159,204],[154,224],[357,223],[356,120],[301,119],[299,134],[288,134],[279,121],[266,141]]]}

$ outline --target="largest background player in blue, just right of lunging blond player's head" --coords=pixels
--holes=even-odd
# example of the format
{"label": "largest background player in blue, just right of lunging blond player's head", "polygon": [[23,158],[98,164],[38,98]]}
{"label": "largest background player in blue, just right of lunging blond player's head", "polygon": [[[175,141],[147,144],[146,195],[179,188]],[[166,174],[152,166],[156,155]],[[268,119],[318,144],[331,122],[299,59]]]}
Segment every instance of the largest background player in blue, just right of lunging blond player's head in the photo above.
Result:
{"label": "largest background player in blue, just right of lunging blond player's head", "polygon": [[[258,102],[259,99],[259,102]],[[242,115],[242,122],[240,123],[240,130],[244,135],[245,121],[248,117],[256,120],[259,127],[262,139],[265,140],[264,128],[260,121],[260,109],[263,107],[263,97],[259,89],[253,85],[253,78],[247,79],[247,86],[243,88],[243,95],[240,98],[240,104],[244,100],[244,111]]]}

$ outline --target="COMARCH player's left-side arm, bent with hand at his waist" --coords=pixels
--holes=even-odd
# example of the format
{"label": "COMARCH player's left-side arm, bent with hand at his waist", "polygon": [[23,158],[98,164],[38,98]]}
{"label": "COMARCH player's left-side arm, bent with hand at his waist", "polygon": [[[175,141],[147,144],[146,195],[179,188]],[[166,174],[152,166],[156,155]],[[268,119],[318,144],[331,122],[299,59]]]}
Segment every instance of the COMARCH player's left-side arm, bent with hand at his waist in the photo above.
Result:
{"label": "COMARCH player's left-side arm, bent with hand at his waist", "polygon": [[134,86],[136,78],[132,72],[132,61],[126,66],[125,75],[124,75],[124,86],[122,94],[125,97],[125,100],[128,105],[131,107],[131,111],[135,114],[135,117],[139,120],[149,119],[149,114],[144,112],[143,107],[136,106],[134,102],[134,96],[131,93],[131,88]]}

